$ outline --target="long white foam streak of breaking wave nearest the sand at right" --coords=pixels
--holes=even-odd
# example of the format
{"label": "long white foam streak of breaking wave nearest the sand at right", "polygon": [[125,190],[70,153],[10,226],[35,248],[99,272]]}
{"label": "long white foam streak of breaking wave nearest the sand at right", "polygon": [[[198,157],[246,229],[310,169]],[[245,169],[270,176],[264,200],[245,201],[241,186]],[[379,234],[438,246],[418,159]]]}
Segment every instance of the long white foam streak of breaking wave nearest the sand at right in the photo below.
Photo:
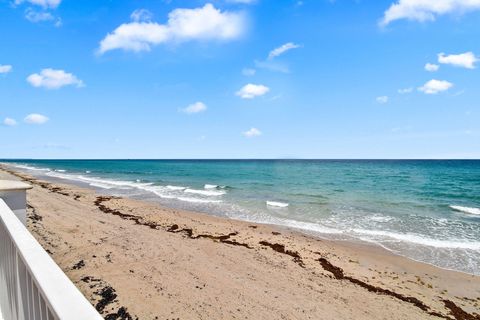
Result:
{"label": "long white foam streak of breaking wave nearest the sand at right", "polygon": [[396,233],[396,232],[381,231],[381,230],[352,229],[351,231],[359,235],[368,236],[368,238],[361,237],[362,240],[367,240],[367,241],[374,240],[375,242],[377,242],[380,239],[378,238],[372,239],[371,237],[381,237],[381,238],[393,239],[393,240],[409,242],[409,243],[435,247],[435,248],[480,250],[479,241],[464,241],[460,239],[440,240],[440,239],[422,237],[416,234]]}

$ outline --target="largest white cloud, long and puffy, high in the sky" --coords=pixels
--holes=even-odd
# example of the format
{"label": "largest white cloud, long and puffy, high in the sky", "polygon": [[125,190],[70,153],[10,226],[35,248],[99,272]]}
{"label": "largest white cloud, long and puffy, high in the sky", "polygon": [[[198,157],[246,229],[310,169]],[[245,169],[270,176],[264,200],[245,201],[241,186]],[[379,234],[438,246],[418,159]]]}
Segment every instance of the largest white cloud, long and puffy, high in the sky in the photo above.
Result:
{"label": "largest white cloud, long and puffy, high in the sky", "polygon": [[245,18],[242,13],[220,11],[212,4],[197,9],[175,9],[166,24],[133,21],[109,33],[98,52],[124,49],[149,51],[151,46],[191,40],[231,40],[242,35]]}

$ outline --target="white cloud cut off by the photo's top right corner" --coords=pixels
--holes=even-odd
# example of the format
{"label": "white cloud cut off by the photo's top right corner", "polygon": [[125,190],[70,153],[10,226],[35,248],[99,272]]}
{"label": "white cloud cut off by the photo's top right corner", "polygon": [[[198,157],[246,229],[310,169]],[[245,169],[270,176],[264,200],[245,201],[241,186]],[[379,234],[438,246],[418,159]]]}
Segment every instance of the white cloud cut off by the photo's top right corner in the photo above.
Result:
{"label": "white cloud cut off by the photo's top right corner", "polygon": [[398,0],[385,11],[380,25],[400,19],[434,21],[440,15],[479,9],[480,0]]}

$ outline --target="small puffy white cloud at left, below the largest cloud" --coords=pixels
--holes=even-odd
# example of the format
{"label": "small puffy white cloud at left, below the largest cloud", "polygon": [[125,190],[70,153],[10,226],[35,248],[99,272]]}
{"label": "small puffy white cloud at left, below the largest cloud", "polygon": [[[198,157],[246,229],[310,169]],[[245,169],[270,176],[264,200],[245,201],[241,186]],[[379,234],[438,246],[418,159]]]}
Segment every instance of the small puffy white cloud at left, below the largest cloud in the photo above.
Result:
{"label": "small puffy white cloud at left, below the largest cloud", "polygon": [[59,89],[63,86],[74,85],[83,87],[82,80],[71,73],[63,70],[43,69],[40,73],[34,73],[27,77],[27,81],[34,87],[47,89]]}

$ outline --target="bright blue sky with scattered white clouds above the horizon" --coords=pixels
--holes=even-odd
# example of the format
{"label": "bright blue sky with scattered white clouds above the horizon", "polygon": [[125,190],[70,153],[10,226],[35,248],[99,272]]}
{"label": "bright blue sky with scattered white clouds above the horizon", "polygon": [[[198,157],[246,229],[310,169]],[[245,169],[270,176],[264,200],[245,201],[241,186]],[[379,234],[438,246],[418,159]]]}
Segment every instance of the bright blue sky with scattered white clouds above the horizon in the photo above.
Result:
{"label": "bright blue sky with scattered white clouds above the horizon", "polygon": [[3,0],[0,16],[0,158],[480,158],[480,1]]}

